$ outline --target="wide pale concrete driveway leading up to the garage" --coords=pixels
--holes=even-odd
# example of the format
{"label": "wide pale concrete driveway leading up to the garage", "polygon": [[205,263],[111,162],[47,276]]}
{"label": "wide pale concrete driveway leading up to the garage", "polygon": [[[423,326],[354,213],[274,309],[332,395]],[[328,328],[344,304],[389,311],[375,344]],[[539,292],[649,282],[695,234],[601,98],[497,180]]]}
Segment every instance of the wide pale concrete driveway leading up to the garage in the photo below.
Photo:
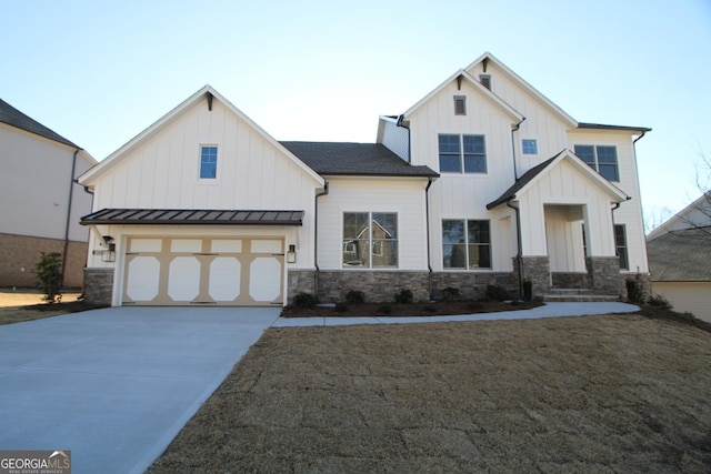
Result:
{"label": "wide pale concrete driveway leading up to the garage", "polygon": [[280,307],[111,307],[0,326],[0,450],[143,472]]}

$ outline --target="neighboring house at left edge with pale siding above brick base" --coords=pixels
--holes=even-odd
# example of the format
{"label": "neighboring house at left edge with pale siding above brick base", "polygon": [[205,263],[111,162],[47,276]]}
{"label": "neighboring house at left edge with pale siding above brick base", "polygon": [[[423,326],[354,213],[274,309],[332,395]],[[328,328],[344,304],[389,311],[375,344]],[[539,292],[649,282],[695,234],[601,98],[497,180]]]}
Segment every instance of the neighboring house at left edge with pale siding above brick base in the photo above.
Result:
{"label": "neighboring house at left edge with pale siding above brick base", "polygon": [[59,252],[63,285],[81,288],[91,194],[74,180],[97,162],[0,100],[0,286],[34,286],[40,252]]}

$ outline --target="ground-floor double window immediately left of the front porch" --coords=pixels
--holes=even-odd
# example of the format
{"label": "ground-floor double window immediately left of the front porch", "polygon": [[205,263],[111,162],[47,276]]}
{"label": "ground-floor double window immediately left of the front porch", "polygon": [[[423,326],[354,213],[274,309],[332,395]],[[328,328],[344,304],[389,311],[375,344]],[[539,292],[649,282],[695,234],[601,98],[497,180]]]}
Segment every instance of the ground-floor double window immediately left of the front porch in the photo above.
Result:
{"label": "ground-floor double window immediately left of the front porch", "polygon": [[491,269],[489,221],[443,220],[442,263],[445,269]]}

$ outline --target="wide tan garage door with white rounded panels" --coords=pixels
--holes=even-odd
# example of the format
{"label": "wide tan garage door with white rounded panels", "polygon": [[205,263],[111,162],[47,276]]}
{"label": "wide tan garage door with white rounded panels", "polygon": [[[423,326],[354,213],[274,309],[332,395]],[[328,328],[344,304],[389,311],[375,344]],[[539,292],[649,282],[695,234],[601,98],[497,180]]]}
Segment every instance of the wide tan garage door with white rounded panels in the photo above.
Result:
{"label": "wide tan garage door with white rounded panels", "polygon": [[131,238],[123,304],[281,304],[283,245],[278,238]]}

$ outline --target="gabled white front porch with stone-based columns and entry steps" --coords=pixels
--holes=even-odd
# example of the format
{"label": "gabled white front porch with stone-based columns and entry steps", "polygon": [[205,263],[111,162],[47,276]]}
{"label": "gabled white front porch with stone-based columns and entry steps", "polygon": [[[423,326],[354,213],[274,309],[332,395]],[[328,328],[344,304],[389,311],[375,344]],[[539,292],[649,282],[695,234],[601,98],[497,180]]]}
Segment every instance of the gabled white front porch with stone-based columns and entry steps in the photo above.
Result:
{"label": "gabled white front porch with stone-based columns and entry steps", "polygon": [[617,296],[622,281],[613,211],[627,195],[569,150],[523,174],[501,198],[517,216],[513,268],[534,296]]}

